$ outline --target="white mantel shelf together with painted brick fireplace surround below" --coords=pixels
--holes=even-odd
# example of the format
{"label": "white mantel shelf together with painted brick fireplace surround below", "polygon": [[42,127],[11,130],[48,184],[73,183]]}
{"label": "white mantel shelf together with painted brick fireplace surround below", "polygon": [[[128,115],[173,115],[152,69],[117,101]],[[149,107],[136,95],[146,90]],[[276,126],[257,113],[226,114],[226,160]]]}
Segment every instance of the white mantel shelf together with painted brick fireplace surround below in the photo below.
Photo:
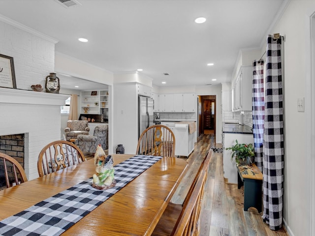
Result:
{"label": "white mantel shelf together with painted brick fireplace surround below", "polygon": [[60,106],[66,94],[0,88],[0,135],[25,134],[24,168],[38,177],[37,158],[48,143],[60,140]]}

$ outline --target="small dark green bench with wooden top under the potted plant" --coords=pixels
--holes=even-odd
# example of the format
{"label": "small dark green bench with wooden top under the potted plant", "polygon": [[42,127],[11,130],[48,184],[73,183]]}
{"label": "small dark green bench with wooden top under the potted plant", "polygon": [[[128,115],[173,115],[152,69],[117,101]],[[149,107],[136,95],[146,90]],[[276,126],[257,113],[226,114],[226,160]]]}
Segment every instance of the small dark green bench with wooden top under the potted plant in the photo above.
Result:
{"label": "small dark green bench with wooden top under the potted plant", "polygon": [[255,207],[262,211],[262,173],[255,164],[237,167],[237,187],[244,185],[244,210]]}

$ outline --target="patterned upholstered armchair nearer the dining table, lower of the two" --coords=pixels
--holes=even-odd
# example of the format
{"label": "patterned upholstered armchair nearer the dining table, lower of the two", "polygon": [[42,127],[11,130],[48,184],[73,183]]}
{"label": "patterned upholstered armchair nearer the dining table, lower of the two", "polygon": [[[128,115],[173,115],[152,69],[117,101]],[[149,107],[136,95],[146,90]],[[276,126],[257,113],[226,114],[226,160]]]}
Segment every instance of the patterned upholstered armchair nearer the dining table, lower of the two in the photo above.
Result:
{"label": "patterned upholstered armchair nearer the dining table, lower of the two", "polygon": [[108,149],[108,124],[97,125],[94,135],[78,135],[75,144],[83,152],[95,153],[98,144],[105,151]]}

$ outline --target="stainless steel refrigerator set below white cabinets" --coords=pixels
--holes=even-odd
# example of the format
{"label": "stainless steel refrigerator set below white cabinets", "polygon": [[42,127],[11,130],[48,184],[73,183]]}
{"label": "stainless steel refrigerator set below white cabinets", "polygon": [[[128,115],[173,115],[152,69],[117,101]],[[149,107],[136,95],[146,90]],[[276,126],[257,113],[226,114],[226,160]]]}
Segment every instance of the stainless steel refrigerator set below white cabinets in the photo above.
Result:
{"label": "stainless steel refrigerator set below white cabinets", "polygon": [[153,99],[150,97],[138,97],[138,138],[142,132],[153,125]]}

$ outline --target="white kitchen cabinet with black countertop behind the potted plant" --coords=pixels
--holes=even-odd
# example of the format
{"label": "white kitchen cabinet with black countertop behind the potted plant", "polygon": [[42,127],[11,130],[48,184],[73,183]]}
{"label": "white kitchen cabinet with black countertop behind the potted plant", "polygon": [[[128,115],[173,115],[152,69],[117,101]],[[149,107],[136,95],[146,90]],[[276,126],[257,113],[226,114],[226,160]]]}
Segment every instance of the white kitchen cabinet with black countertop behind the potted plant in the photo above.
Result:
{"label": "white kitchen cabinet with black countertop behind the potted plant", "polygon": [[222,149],[224,178],[229,183],[237,183],[237,168],[235,161],[231,160],[231,150],[225,150],[238,143],[253,143],[252,127],[237,123],[222,123]]}

